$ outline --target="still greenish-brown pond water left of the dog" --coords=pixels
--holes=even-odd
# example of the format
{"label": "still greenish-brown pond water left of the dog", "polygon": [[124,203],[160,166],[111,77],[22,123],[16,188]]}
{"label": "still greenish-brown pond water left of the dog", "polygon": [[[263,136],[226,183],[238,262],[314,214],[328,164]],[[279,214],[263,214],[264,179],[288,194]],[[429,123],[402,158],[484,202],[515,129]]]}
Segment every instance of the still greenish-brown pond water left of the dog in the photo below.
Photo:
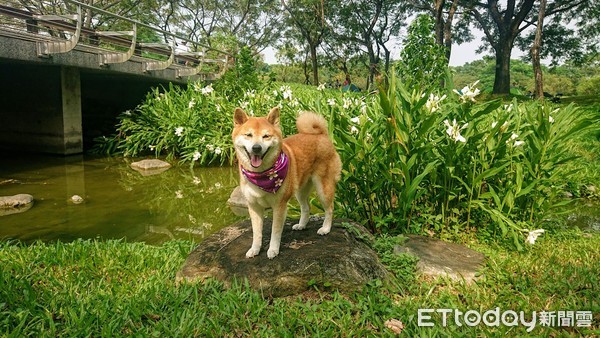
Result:
{"label": "still greenish-brown pond water left of the dog", "polygon": [[[235,168],[182,165],[143,176],[129,167],[133,160],[118,157],[3,156],[0,196],[35,201],[23,213],[0,216],[0,239],[199,241],[241,219],[226,205],[238,183]],[[74,195],[83,203],[73,203]]]}

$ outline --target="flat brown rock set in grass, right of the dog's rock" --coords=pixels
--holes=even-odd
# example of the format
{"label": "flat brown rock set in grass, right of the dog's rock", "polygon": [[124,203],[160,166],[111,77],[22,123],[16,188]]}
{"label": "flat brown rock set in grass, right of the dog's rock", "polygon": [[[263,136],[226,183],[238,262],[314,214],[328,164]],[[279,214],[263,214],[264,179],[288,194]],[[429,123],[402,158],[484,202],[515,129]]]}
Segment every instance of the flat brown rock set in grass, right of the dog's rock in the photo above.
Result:
{"label": "flat brown rock set in grass, right of the dog's rock", "polygon": [[481,268],[485,255],[466,246],[435,238],[407,235],[408,241],[394,247],[394,253],[411,254],[419,258],[417,269],[429,276],[447,276],[469,284]]}

